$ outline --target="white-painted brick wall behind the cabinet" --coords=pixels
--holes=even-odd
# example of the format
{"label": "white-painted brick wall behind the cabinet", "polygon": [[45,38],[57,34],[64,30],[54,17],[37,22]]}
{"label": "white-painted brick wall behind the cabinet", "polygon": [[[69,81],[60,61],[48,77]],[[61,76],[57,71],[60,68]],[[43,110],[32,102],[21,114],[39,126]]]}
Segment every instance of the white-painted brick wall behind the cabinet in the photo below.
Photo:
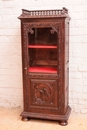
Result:
{"label": "white-painted brick wall behind the cabinet", "polygon": [[87,0],[0,0],[0,106],[22,107],[21,9],[69,9],[69,101],[87,113]]}

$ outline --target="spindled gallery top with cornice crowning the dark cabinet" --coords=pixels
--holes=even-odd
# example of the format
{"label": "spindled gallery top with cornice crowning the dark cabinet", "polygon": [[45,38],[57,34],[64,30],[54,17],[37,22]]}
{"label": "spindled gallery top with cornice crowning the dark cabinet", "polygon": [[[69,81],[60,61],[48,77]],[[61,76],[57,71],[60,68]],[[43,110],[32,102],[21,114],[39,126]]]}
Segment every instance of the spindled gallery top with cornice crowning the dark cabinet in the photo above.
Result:
{"label": "spindled gallery top with cornice crowning the dark cabinet", "polygon": [[43,18],[43,17],[69,17],[68,9],[63,7],[60,10],[25,10],[22,9],[22,14],[19,19],[22,18]]}

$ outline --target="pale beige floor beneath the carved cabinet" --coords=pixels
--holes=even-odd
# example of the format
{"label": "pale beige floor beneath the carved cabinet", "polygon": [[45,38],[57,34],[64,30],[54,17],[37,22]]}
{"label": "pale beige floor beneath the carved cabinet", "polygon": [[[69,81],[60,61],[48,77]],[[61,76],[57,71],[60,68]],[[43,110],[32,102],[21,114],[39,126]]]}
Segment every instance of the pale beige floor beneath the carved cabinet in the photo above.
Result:
{"label": "pale beige floor beneath the carved cabinet", "polygon": [[0,130],[87,130],[87,114],[71,114],[68,125],[60,126],[58,122],[31,119],[21,121],[22,110],[0,108]]}

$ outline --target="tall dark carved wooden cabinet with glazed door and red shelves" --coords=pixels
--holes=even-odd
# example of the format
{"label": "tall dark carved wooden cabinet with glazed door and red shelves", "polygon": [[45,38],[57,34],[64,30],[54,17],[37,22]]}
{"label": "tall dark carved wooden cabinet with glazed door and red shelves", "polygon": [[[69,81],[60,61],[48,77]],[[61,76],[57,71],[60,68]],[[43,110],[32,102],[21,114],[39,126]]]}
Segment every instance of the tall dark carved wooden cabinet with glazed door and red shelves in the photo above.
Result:
{"label": "tall dark carved wooden cabinet with glazed door and red shelves", "polygon": [[67,125],[69,86],[68,10],[22,10],[24,111],[30,118],[58,120]]}

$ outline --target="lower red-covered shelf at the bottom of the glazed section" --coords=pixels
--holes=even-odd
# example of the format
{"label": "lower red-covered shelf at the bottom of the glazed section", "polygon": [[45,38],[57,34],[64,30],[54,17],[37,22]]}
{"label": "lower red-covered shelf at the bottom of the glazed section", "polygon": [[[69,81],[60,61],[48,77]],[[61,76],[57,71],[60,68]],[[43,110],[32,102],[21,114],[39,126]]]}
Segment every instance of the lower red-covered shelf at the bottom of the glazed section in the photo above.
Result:
{"label": "lower red-covered shelf at the bottom of the glazed section", "polygon": [[46,68],[46,67],[30,67],[28,69],[29,72],[37,72],[37,73],[57,73],[56,68]]}

